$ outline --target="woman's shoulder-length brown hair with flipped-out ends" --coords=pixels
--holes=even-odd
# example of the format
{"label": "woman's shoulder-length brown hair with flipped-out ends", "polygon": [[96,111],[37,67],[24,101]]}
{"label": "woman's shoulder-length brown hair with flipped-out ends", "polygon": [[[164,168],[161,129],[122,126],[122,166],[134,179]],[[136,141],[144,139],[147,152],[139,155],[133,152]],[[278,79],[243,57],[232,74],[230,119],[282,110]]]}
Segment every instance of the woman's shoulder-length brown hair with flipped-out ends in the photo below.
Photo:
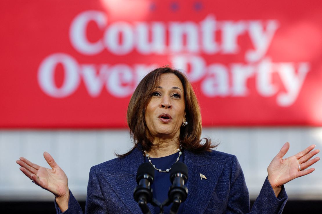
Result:
{"label": "woman's shoulder-length brown hair with flipped-out ends", "polygon": [[160,82],[161,74],[173,73],[181,81],[184,88],[185,98],[185,118],[188,125],[181,126],[179,141],[181,145],[192,152],[209,151],[218,145],[212,145],[210,138],[204,138],[202,144],[201,136],[201,114],[198,100],[194,90],[184,73],[170,67],[160,67],[148,73],[138,84],[135,89],[130,103],[128,104],[128,127],[130,128],[131,137],[134,140],[134,147],[123,155],[116,154],[118,157],[125,157],[141,143],[142,149],[149,151],[151,140],[147,136],[147,124],[145,121],[145,110],[151,99],[151,94]]}

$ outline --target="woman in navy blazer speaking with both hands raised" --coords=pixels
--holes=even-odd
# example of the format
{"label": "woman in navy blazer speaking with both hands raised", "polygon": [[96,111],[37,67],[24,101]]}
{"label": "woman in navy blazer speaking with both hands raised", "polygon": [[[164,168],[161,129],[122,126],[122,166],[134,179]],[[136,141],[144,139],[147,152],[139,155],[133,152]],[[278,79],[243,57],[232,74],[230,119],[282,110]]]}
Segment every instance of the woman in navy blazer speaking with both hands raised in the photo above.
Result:
{"label": "woman in navy blazer speaking with both hands raised", "polygon": [[[242,169],[234,155],[211,150],[216,145],[201,138],[198,101],[186,76],[169,67],[148,73],[134,91],[127,112],[134,146],[126,154],[91,167],[85,213],[142,213],[133,199],[138,167],[150,163],[155,169],[153,196],[167,198],[171,166],[188,167],[189,194],[178,213],[281,213],[287,200],[283,184],[314,171],[308,168],[320,158],[311,145],[283,159],[285,143],[267,168],[258,198],[250,210],[249,194]],[[44,152],[49,168],[25,158],[16,162],[35,184],[55,195],[57,213],[82,213],[68,188],[64,171]],[[158,208],[148,204],[152,213]],[[169,207],[165,207],[168,213]]]}

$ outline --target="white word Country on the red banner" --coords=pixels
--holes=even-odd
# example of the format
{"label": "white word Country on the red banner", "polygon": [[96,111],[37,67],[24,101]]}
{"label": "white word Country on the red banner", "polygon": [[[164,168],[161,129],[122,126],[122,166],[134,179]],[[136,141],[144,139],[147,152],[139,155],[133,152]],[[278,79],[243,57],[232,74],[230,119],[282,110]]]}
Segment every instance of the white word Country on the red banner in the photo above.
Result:
{"label": "white word Country on the red banner", "polygon": [[[204,53],[238,54],[238,38],[248,35],[254,50],[246,50],[245,60],[255,62],[265,56],[270,42],[278,29],[277,20],[262,21],[217,21],[209,14],[199,23],[184,22],[135,22],[116,21],[108,25],[107,17],[100,11],[86,11],[71,23],[70,39],[73,47],[81,54],[95,55],[105,49],[115,55],[126,55],[136,50],[140,54]],[[105,27],[104,38],[90,43],[86,29],[95,21],[99,29]],[[264,30],[265,29],[265,30]],[[152,41],[149,42],[149,33]],[[222,43],[216,42],[215,33],[221,32]],[[169,34],[168,41],[166,35]],[[119,41],[122,35],[121,42]],[[201,38],[202,40],[200,41]],[[186,39],[186,42],[184,42]],[[168,44],[168,47],[166,47]]]}

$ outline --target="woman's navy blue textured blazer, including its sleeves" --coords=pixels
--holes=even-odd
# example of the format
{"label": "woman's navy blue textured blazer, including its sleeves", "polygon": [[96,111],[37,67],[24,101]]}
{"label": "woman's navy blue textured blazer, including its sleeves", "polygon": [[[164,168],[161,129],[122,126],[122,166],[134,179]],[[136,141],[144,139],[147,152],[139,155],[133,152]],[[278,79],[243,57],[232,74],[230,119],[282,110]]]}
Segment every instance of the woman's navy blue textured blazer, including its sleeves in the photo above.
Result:
{"label": "woman's navy blue textured blazer, including its sleeves", "polygon": [[[185,150],[188,167],[188,197],[183,213],[249,213],[250,201],[245,178],[236,156],[219,151],[193,153]],[[91,167],[85,213],[142,213],[133,199],[137,168],[144,162],[140,146],[124,158],[115,158]],[[201,179],[200,173],[207,179]],[[251,213],[281,213],[287,201],[284,187],[276,198],[268,179]],[[62,213],[56,202],[57,213]],[[154,208],[148,204],[151,213]],[[82,210],[72,193],[68,210]]]}

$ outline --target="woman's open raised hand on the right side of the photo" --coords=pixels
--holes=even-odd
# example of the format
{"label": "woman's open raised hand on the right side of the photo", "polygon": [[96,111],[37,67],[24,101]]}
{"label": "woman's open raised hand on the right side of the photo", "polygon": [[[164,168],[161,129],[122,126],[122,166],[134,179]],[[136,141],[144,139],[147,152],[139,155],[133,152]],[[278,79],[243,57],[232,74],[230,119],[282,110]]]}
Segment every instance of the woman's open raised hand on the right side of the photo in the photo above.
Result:
{"label": "woman's open raised hand on the right side of the photo", "polygon": [[[320,159],[319,157],[311,159],[320,152],[318,149],[313,150],[314,147],[315,145],[311,145],[296,155],[283,159],[284,155],[289,150],[289,142],[283,145],[267,168],[268,180],[276,196],[278,196],[283,184],[286,184],[297,177],[307,175],[315,170],[314,168],[308,169],[308,167]],[[300,168],[298,166],[300,166]]]}

